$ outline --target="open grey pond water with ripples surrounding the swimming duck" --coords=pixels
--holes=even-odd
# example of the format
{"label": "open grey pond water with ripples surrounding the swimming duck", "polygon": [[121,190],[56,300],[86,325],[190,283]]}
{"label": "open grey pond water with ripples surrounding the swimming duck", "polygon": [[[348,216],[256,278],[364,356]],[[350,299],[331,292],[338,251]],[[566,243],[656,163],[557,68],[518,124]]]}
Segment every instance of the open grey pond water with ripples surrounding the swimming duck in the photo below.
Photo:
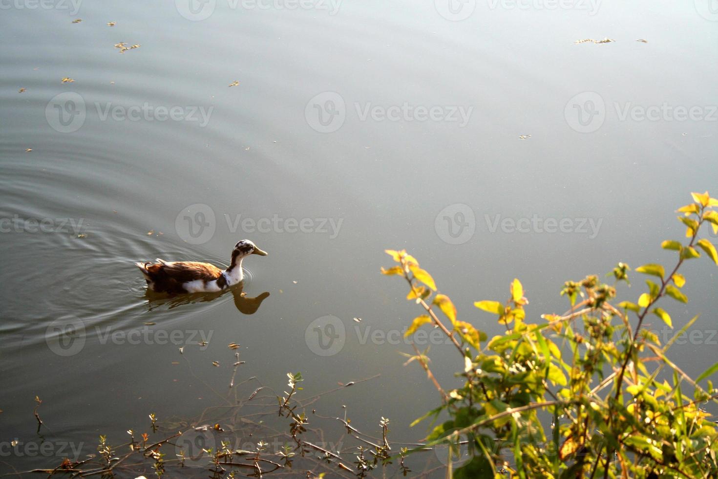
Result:
{"label": "open grey pond water with ripples surrounding the swimming duck", "polygon": [[[409,250],[490,336],[472,302],[514,277],[538,320],[567,309],[568,279],[671,264],[673,211],[718,189],[711,6],[0,1],[0,471],[126,442],[149,413],[192,422],[236,352],[236,382],[276,394],[290,371],[305,396],[372,378],[317,411],[421,440],[409,424],[439,396],[402,366],[419,310],[383,250]],[[245,261],[246,297],[148,297],[134,266],[227,264],[243,238],[269,252]],[[663,306],[676,327],[703,313],[672,350],[697,375],[717,359],[717,278],[704,259],[684,274],[691,302]],[[452,346],[417,342],[456,383]]]}

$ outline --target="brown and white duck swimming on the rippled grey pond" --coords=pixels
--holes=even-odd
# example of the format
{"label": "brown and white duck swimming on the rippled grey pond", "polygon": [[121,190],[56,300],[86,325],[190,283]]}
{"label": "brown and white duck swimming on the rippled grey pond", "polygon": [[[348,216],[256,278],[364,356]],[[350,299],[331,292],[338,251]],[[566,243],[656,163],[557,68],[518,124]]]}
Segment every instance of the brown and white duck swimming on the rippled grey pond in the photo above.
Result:
{"label": "brown and white duck swimming on the rippled grey pond", "polygon": [[249,240],[238,241],[232,249],[232,261],[227,269],[199,261],[164,261],[135,263],[144,275],[147,288],[154,292],[180,294],[218,292],[239,284],[244,279],[242,260],[251,254],[267,256]]}

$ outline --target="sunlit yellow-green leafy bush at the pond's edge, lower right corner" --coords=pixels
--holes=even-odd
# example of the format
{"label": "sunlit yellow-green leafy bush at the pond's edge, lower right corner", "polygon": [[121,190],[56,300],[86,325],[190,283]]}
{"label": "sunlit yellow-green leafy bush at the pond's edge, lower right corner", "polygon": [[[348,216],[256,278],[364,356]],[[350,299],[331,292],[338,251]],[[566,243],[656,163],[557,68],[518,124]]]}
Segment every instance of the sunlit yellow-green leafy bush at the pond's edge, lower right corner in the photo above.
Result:
{"label": "sunlit yellow-green leafy bush at the pond's edge, lower right corner", "polygon": [[424,368],[442,399],[414,424],[449,417],[433,427],[425,447],[448,444],[449,454],[460,444],[467,447],[470,460],[452,471],[449,458],[448,477],[718,477],[718,424],[699,407],[718,403],[718,389],[709,381],[718,363],[690,378],[668,358],[675,338],[663,345],[644,325],[648,315],[656,315],[673,327],[656,304],[666,296],[688,302],[681,292],[686,279],[678,271],[701,256],[699,249],[718,264],[716,248],[699,238],[705,223],[718,232],[718,200],[707,192],[692,196],[694,202],[678,210],[687,242],[661,244],[676,252],[676,264],[668,274],[661,264],[636,268],[651,277],[636,302],[615,303],[616,287],[628,283],[630,271],[619,263],[609,273],[613,284],[598,276],[566,282],[561,295],[569,299],[569,310],[531,322],[523,286],[514,279],[507,301],[475,303],[505,325],[505,333],[490,340],[457,318],[451,299],[437,292],[419,261],[406,251],[386,251],[396,264],[383,274],[403,277],[409,284],[406,299],[424,310],[406,335],[423,325],[438,327],[462,361],[457,375],[464,384],[448,391],[432,374],[426,352],[415,348],[407,361]]}

